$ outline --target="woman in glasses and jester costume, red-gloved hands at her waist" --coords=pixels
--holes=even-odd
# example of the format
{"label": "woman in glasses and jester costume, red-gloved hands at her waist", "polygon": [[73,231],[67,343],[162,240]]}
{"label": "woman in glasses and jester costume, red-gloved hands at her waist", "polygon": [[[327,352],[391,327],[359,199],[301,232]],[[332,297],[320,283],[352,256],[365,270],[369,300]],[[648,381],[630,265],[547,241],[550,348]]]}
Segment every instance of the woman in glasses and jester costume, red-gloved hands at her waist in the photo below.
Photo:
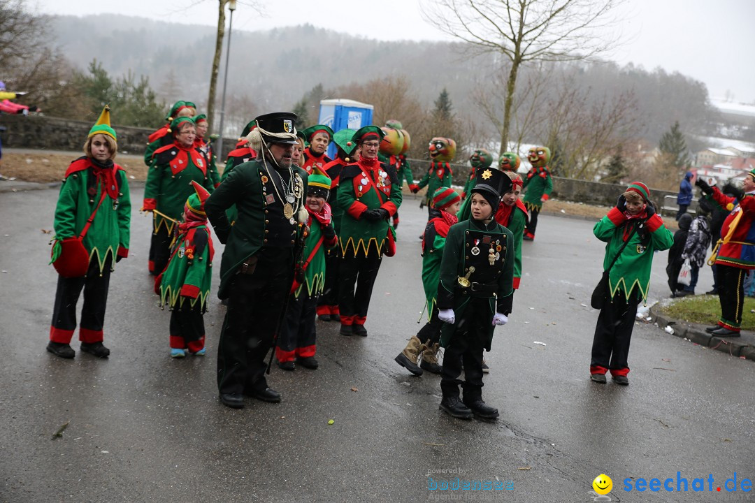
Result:
{"label": "woman in glasses and jester costume, red-gloved hands at her waist", "polygon": [[359,161],[341,170],[338,205],[345,213],[339,233],[343,259],[338,295],[344,336],[367,336],[364,325],[377,271],[383,254],[395,252],[388,219],[399,209],[402,192],[396,170],[377,160],[383,135],[377,126],[357,130],[353,140],[359,145]]}

